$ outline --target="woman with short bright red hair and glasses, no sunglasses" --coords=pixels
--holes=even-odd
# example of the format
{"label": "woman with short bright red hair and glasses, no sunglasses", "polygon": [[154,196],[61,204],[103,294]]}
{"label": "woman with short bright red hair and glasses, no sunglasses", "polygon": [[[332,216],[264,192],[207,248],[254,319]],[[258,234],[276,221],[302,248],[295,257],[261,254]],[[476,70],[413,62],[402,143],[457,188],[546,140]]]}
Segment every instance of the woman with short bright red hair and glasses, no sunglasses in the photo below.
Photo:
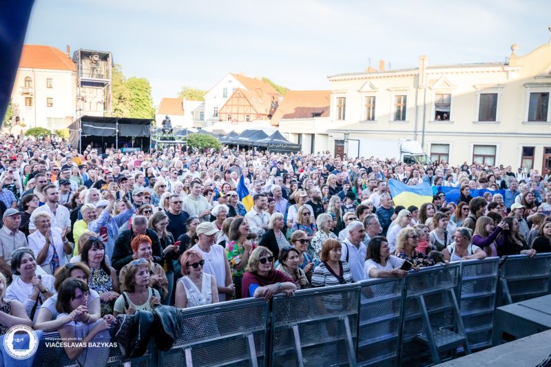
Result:
{"label": "woman with short bright red hair and glasses, no sunglasses", "polygon": [[[149,277],[149,286],[158,291],[158,294],[160,295],[159,300],[163,301],[165,297],[169,297],[168,279],[163,266],[153,262],[153,251],[151,245],[152,242],[151,239],[149,239],[149,236],[136,235],[136,237],[132,239],[131,244],[133,253],[132,258],[140,260],[143,259],[147,262],[149,272],[151,273],[151,276]],[[130,264],[123,266],[118,274],[118,282],[121,284],[121,290],[128,289],[125,284],[128,277],[125,276],[125,273],[132,264],[134,264],[134,262],[130,262]]]}

